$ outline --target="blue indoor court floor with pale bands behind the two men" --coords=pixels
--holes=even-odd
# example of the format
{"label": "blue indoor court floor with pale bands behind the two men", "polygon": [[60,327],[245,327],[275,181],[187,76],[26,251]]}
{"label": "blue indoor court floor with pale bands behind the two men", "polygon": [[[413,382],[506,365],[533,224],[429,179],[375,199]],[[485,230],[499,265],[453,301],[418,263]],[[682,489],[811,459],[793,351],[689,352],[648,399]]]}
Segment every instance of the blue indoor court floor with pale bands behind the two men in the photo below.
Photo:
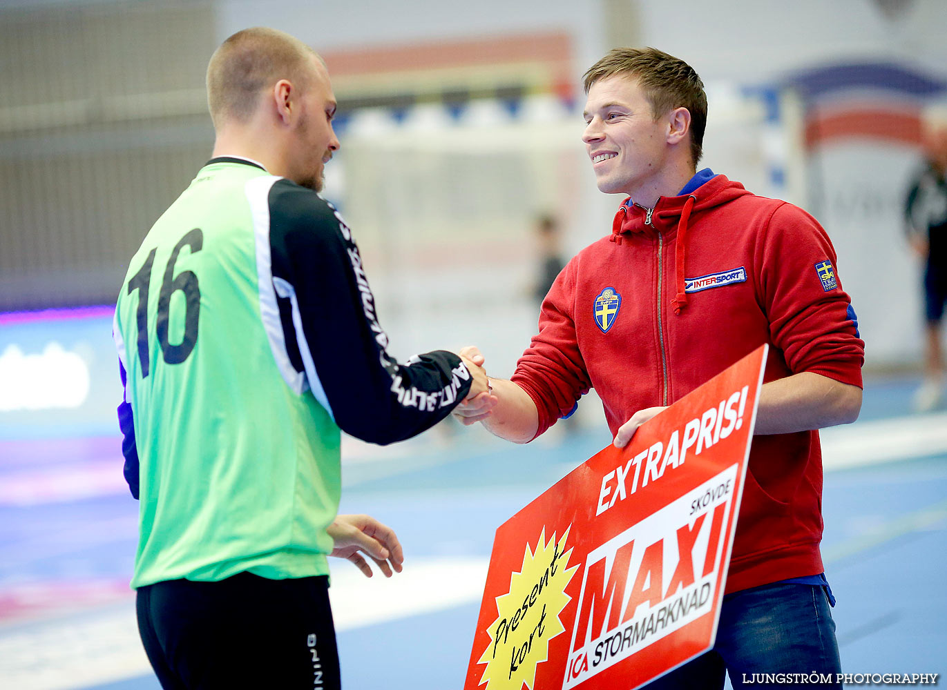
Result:
{"label": "blue indoor court floor with pale bands behind the two men", "polygon": [[[823,433],[823,556],[849,673],[947,671],[947,413],[911,415],[915,385],[868,380],[860,420]],[[453,422],[395,448],[350,444],[342,511],[394,527],[405,570],[367,580],[333,562],[345,687],[461,687],[495,528],[609,442],[592,426],[527,446]],[[127,587],[136,511],[116,436],[0,440],[0,687],[158,687]]]}

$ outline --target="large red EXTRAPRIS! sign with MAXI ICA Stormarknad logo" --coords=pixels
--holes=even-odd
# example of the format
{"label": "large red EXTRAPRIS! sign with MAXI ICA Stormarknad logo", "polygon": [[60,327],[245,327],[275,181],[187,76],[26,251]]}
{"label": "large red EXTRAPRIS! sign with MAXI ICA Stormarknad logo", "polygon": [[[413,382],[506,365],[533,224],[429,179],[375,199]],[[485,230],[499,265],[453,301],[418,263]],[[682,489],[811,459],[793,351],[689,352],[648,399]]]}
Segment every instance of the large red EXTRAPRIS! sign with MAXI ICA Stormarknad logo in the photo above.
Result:
{"label": "large red EXTRAPRIS! sign with MAXI ICA Stormarknad logo", "polygon": [[465,690],[633,690],[713,646],[766,352],[500,525]]}

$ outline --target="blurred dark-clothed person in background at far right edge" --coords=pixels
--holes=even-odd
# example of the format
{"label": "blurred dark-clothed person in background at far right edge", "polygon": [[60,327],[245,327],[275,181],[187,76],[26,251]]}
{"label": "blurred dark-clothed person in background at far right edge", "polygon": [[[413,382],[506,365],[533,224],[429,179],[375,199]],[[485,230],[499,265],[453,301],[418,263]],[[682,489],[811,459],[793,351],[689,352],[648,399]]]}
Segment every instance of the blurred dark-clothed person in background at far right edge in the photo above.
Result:
{"label": "blurred dark-clothed person in background at far right edge", "polygon": [[924,114],[922,168],[911,180],[904,220],[911,248],[924,262],[924,380],[914,396],[918,412],[943,400],[944,358],[940,322],[947,302],[947,108]]}

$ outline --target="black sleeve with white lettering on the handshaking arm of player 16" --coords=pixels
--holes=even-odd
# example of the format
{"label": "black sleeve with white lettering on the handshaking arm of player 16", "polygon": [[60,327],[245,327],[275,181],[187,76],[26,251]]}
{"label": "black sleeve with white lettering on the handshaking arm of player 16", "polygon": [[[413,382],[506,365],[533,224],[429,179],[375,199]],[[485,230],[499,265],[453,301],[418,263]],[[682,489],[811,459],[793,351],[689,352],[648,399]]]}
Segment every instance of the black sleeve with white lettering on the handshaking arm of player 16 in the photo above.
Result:
{"label": "black sleeve with white lettering on the handshaking arm of player 16", "polygon": [[286,181],[273,185],[269,203],[272,299],[283,328],[275,342],[287,345],[283,376],[298,388],[304,372],[342,431],[370,443],[401,441],[486,390],[486,374],[453,352],[407,363],[390,355],[358,246],[331,204]]}

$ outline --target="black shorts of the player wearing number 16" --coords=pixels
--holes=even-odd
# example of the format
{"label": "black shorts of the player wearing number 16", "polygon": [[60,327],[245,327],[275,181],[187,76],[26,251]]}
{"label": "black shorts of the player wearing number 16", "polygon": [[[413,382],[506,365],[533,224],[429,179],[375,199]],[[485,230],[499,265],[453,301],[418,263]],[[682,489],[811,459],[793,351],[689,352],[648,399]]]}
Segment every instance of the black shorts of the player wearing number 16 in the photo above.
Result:
{"label": "black shorts of the player wearing number 16", "polygon": [[339,690],[327,576],[158,582],[136,610],[165,690]]}

